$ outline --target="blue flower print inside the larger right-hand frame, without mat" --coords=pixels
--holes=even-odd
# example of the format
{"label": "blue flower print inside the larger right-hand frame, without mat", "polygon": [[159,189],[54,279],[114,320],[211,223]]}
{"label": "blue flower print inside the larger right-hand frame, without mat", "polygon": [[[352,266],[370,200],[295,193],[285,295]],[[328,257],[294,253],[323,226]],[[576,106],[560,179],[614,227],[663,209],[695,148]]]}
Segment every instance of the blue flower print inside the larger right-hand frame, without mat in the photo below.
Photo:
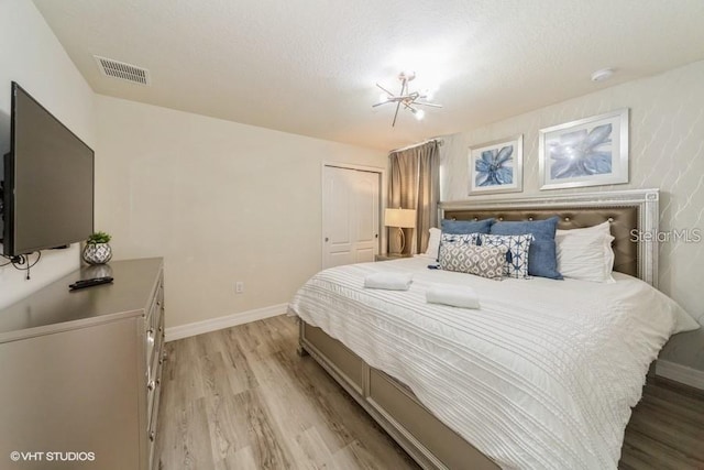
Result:
{"label": "blue flower print inside the larger right-hand frame, without mat", "polygon": [[568,132],[548,142],[552,179],[612,173],[612,124]]}

